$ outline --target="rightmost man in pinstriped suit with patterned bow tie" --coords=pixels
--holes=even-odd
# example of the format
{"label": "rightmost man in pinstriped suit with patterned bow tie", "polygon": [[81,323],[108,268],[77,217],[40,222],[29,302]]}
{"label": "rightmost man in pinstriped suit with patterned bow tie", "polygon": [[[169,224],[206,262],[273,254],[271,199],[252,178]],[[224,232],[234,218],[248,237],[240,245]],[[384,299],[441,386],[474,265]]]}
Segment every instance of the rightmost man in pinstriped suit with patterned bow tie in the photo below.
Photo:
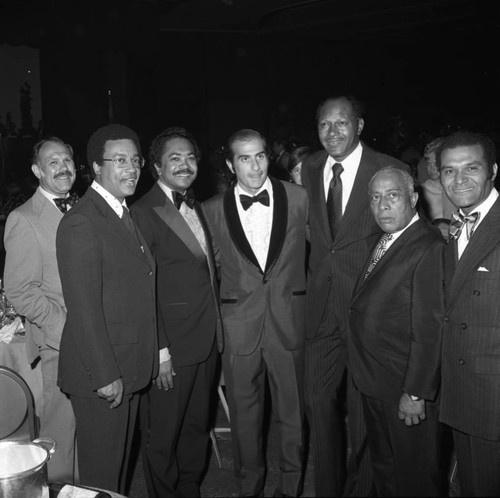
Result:
{"label": "rightmost man in pinstriped suit with patterned bow tie", "polygon": [[436,153],[458,208],[446,251],[441,415],[453,429],[462,496],[500,496],[500,200],[495,146],[458,132]]}

